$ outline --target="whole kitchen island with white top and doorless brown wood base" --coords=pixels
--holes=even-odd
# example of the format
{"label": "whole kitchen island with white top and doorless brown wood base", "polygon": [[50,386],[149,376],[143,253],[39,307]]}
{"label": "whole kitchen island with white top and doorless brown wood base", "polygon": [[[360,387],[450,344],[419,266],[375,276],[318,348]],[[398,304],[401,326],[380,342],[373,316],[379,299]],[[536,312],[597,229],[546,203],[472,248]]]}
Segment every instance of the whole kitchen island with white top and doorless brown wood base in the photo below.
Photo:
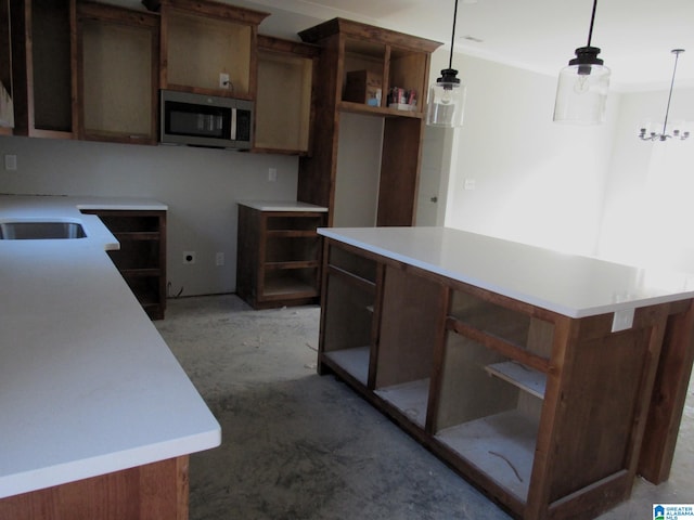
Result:
{"label": "whole kitchen island with white top and doorless brown wood base", "polygon": [[517,518],[668,478],[694,277],[445,227],[321,229],[334,373]]}

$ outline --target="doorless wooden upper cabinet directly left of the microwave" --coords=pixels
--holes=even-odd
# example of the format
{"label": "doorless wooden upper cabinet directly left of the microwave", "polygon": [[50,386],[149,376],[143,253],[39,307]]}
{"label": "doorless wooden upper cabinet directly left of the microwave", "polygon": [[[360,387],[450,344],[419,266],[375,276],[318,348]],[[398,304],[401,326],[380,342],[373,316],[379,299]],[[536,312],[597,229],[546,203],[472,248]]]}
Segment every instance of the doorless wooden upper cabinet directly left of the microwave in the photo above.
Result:
{"label": "doorless wooden upper cabinet directly left of the microwave", "polygon": [[76,64],[78,138],[156,144],[159,17],[78,2]]}

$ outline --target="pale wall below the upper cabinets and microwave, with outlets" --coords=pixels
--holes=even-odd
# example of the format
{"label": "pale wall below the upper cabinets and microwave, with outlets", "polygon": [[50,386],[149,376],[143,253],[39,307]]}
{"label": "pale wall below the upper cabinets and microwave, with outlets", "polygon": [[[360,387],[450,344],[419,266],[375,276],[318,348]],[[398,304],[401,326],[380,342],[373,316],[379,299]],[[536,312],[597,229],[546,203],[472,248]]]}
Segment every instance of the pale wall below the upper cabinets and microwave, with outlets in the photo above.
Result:
{"label": "pale wall below the upper cabinets and microwave, with outlets", "polygon": [[[0,138],[0,157],[17,156],[17,171],[0,165],[0,193],[136,196],[168,211],[170,294],[231,292],[236,287],[235,200],[295,200],[296,157],[179,146],[141,146],[16,136]],[[268,169],[277,168],[277,182]],[[197,253],[183,265],[183,251]],[[215,265],[215,253],[226,257]]]}

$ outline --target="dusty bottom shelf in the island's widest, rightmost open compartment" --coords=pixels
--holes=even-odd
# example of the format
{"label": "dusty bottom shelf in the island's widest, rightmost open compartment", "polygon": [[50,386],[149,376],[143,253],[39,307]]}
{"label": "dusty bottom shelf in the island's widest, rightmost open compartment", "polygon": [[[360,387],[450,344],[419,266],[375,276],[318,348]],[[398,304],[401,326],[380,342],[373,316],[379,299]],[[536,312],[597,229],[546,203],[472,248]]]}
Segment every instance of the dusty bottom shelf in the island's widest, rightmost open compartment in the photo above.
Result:
{"label": "dusty bottom shelf in the island's widest, rightmost open compartment", "polygon": [[538,429],[537,420],[511,411],[446,428],[435,439],[525,502]]}

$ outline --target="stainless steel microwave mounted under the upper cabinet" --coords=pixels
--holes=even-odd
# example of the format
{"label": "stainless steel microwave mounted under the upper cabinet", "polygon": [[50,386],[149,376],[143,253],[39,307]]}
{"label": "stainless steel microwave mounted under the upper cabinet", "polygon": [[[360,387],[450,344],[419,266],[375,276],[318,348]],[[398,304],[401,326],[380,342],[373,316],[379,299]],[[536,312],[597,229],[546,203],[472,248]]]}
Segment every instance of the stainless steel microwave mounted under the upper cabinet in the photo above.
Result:
{"label": "stainless steel microwave mounted under the upper cabinet", "polygon": [[253,102],[174,90],[160,91],[159,142],[248,150]]}

